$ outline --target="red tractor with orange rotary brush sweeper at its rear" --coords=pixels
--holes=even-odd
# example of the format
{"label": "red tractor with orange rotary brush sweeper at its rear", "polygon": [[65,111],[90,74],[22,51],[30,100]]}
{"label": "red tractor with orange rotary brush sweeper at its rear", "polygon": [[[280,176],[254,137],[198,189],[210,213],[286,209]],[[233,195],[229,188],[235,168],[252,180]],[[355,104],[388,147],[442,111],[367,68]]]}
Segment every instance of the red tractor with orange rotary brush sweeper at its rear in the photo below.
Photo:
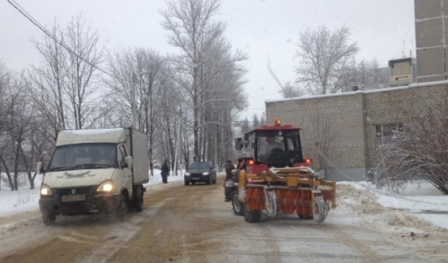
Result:
{"label": "red tractor with orange rotary brush sweeper at its rear", "polygon": [[261,212],[274,218],[295,213],[302,219],[325,220],[330,206],[336,208],[336,182],[319,179],[304,159],[300,128],[263,125],[235,139],[246,170],[225,181],[226,201],[246,222],[258,222]]}

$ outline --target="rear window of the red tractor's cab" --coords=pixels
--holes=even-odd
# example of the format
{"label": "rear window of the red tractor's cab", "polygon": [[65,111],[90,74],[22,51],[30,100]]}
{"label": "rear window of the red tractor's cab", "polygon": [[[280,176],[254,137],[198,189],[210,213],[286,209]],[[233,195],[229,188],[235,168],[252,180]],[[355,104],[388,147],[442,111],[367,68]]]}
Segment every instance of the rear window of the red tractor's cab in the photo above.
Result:
{"label": "rear window of the red tractor's cab", "polygon": [[288,165],[303,162],[299,131],[259,131],[257,162]]}

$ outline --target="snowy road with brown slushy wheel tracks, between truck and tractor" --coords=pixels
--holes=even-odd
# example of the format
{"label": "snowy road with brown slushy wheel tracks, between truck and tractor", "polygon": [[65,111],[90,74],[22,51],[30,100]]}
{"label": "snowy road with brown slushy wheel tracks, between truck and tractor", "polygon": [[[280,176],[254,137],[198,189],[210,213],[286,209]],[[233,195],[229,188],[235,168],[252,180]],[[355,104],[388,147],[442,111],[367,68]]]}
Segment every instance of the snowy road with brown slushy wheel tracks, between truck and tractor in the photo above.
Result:
{"label": "snowy road with brown slushy wheel tracks, between truck and tractor", "polygon": [[383,208],[365,190],[341,185],[321,225],[297,215],[249,224],[223,201],[222,180],[151,185],[144,212],[125,222],[3,218],[0,262],[448,262],[446,230]]}

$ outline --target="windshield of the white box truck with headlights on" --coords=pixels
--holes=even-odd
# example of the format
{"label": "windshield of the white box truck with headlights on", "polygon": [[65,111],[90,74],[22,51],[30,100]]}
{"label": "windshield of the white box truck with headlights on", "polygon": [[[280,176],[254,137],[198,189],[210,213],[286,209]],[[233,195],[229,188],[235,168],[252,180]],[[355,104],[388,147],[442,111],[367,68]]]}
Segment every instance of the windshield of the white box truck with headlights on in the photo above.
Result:
{"label": "windshield of the white box truck with headlights on", "polygon": [[94,169],[116,166],[113,143],[80,143],[58,146],[51,158],[50,171]]}

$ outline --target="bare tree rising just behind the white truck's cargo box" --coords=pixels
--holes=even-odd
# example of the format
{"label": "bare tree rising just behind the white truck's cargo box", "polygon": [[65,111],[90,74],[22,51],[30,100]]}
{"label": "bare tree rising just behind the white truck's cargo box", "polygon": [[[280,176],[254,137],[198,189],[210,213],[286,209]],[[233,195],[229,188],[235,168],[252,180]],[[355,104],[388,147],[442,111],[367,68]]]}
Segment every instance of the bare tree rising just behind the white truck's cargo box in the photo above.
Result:
{"label": "bare tree rising just behind the white truck's cargo box", "polygon": [[[109,55],[109,69],[118,78],[106,80],[113,89],[113,101],[116,104],[116,115],[122,116],[122,122],[130,123],[132,116],[132,92],[130,83],[132,75],[137,76],[137,129],[148,136],[148,158],[151,176],[153,176],[153,160],[157,155],[158,145],[155,141],[161,127],[162,87],[167,81],[167,59],[155,50],[135,48],[123,50]],[[125,118],[125,120],[123,120]]]}

